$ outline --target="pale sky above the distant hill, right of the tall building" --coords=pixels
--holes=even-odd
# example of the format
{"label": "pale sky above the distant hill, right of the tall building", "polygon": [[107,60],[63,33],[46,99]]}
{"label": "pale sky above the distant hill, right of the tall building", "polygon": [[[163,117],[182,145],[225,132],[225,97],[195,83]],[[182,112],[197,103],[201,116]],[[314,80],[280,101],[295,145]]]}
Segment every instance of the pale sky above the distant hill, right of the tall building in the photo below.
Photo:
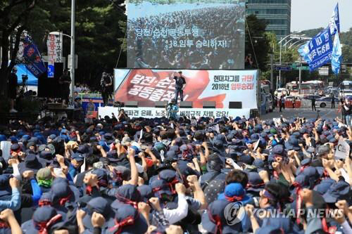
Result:
{"label": "pale sky above the distant hill, right of the tall building", "polygon": [[[337,0],[292,0],[291,32],[327,27]],[[352,27],[352,0],[339,0],[340,30]]]}

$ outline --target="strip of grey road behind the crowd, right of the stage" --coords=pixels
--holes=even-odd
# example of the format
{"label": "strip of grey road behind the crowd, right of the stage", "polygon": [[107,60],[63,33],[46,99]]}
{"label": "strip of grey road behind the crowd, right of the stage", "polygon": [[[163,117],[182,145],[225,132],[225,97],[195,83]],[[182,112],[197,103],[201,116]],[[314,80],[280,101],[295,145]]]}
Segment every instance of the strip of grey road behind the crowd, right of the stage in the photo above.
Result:
{"label": "strip of grey road behind the crowd, right of the stage", "polygon": [[[330,109],[330,108],[317,108],[317,110],[320,110],[319,116],[322,118],[335,118],[339,117],[341,118],[341,113],[337,113],[337,108],[335,109]],[[292,109],[288,108],[285,110],[282,110],[282,112],[279,112],[278,110],[275,110],[274,112],[262,115],[262,119],[268,120],[272,118],[279,118],[280,115],[282,115],[285,119],[291,119],[294,117],[306,117],[306,119],[311,119],[311,118],[316,118],[318,116],[318,112],[313,112],[312,109],[310,108],[299,108],[299,109]]]}

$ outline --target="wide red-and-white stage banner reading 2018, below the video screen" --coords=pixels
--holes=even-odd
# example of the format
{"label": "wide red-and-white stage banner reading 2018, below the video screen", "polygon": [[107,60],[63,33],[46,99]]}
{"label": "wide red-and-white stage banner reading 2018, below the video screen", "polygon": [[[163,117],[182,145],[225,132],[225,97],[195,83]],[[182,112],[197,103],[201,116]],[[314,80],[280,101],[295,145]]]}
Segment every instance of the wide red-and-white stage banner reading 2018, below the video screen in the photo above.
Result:
{"label": "wide red-and-white stage banner reading 2018, below the video screen", "polygon": [[[115,101],[143,102],[153,107],[156,101],[175,98],[175,80],[180,70],[127,70],[114,72]],[[216,108],[229,108],[229,102],[242,102],[242,108],[257,108],[256,70],[181,70],[186,80],[184,101],[203,108],[204,101],[215,101]]]}

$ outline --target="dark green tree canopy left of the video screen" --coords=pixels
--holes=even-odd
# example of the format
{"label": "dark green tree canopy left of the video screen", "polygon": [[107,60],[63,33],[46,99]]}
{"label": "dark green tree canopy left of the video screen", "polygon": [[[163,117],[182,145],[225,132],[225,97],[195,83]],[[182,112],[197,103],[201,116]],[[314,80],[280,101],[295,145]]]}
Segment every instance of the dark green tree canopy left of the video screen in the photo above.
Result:
{"label": "dark green tree canopy left of the video screen", "polygon": [[[113,72],[115,66],[126,66],[125,30],[127,17],[122,0],[76,0],[75,51],[78,55],[77,82],[96,84],[103,70]],[[49,32],[62,31],[70,35],[71,1],[69,0],[11,0],[0,3],[0,46],[3,48],[0,70],[1,90],[4,95],[9,70],[8,36],[19,43],[15,33],[27,31],[46,55]],[[18,39],[18,40],[17,40]],[[11,48],[11,51],[15,49]],[[17,53],[17,52],[15,52]],[[70,54],[70,39],[63,39],[63,56]],[[120,56],[120,60],[118,58]],[[117,63],[118,62],[118,63]]]}

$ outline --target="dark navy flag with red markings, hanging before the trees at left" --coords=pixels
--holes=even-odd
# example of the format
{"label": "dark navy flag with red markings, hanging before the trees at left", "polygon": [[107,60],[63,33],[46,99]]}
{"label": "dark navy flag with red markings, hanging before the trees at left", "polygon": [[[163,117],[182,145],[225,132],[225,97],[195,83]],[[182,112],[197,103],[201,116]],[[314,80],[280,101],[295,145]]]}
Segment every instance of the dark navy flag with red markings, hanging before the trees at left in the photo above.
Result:
{"label": "dark navy flag with red markings, hanging before the trees at left", "polygon": [[39,78],[41,74],[46,72],[45,64],[42,56],[38,51],[37,46],[30,40],[29,37],[25,38],[23,43],[23,58],[25,58],[25,66],[35,77]]}

